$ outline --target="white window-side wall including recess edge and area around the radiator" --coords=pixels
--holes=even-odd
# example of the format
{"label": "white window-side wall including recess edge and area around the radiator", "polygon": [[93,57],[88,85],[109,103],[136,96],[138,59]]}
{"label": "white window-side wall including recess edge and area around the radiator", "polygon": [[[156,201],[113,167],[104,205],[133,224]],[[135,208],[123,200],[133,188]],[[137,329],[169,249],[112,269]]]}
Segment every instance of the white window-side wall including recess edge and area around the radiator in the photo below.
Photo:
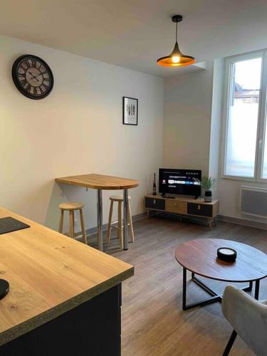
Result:
{"label": "white window-side wall including recess edge and area around the radiator", "polygon": [[199,70],[165,79],[164,93],[164,167],[201,169],[217,178],[214,197],[220,199],[219,214],[266,222],[239,211],[242,185],[267,184],[221,179],[221,138],[224,98],[224,58]]}

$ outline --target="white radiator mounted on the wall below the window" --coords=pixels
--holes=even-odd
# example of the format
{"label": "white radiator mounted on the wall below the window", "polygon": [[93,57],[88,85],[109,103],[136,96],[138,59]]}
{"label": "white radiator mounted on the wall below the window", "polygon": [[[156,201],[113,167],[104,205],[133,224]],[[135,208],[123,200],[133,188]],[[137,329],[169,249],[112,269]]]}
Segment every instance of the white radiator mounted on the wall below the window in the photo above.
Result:
{"label": "white radiator mounted on the wall below the window", "polygon": [[267,189],[242,186],[240,212],[267,218]]}

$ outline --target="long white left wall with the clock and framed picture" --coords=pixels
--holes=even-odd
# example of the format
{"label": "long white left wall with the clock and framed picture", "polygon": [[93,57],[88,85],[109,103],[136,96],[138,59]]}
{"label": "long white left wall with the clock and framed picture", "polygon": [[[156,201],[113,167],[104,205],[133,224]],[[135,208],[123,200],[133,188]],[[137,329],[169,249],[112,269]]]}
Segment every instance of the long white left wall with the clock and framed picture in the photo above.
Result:
{"label": "long white left wall with the clock and framed picture", "polygon": [[[51,95],[19,93],[11,67],[22,54],[53,70]],[[132,214],[143,211],[153,172],[162,164],[163,80],[52,48],[0,36],[0,204],[54,229],[58,203],[84,201],[86,227],[96,226],[96,192],[54,182],[90,172],[140,180]],[[122,96],[139,99],[138,126],[122,125]],[[104,223],[108,195],[104,194]]]}

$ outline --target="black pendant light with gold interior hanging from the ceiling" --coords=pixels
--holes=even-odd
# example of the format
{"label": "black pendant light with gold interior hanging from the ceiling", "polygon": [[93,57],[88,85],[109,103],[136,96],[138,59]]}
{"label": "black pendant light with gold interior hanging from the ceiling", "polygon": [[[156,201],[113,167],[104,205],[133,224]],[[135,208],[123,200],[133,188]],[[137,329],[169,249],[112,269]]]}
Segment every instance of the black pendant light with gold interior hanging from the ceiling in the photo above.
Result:
{"label": "black pendant light with gold interior hanging from the ceiling", "polygon": [[181,22],[183,19],[182,15],[174,15],[172,16],[172,22],[176,23],[176,42],[174,45],[174,49],[169,56],[159,58],[157,60],[157,64],[159,66],[164,66],[164,67],[184,67],[184,66],[190,66],[190,64],[194,63],[194,57],[191,56],[185,56],[182,54],[182,52],[179,50],[179,46],[177,43],[177,24],[178,22]]}

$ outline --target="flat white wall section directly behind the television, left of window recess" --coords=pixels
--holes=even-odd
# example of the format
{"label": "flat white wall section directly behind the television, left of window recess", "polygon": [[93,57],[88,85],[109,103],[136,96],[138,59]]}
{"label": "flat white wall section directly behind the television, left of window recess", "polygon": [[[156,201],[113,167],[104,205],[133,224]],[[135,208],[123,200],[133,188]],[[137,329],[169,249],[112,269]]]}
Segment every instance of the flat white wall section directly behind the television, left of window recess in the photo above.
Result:
{"label": "flat white wall section directly behind the television, left of window recess", "polygon": [[164,82],[163,164],[209,172],[213,63]]}

